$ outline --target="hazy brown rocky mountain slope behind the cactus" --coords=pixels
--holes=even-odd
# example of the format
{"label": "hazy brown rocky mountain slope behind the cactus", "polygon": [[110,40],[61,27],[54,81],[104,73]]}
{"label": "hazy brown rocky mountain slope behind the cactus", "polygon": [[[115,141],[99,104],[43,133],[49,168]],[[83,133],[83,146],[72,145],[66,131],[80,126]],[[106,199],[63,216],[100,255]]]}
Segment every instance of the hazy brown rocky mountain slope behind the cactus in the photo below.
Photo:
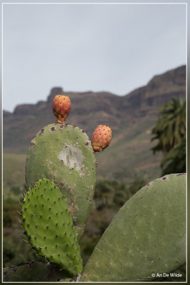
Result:
{"label": "hazy brown rocky mountain slope behind the cactus", "polygon": [[25,154],[38,130],[55,122],[51,105],[57,94],[70,97],[67,123],[83,128],[90,138],[97,125],[112,128],[110,147],[97,153],[98,177],[154,179],[160,175],[161,155],[152,155],[151,130],[162,104],[186,98],[186,66],[154,76],[147,86],[122,97],[107,92],[63,92],[56,87],[46,101],[18,105],[13,113],[4,111],[4,152]]}

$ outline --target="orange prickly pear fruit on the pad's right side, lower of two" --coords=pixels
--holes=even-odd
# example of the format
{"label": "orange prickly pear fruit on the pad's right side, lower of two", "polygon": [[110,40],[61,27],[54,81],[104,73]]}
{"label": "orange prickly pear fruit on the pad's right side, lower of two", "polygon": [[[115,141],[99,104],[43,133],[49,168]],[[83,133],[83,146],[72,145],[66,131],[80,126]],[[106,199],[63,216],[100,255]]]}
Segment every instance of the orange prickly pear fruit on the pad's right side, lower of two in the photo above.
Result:
{"label": "orange prickly pear fruit on the pad's right side, lower of two", "polygon": [[104,150],[112,139],[112,130],[107,125],[98,125],[93,133],[92,145],[95,152]]}

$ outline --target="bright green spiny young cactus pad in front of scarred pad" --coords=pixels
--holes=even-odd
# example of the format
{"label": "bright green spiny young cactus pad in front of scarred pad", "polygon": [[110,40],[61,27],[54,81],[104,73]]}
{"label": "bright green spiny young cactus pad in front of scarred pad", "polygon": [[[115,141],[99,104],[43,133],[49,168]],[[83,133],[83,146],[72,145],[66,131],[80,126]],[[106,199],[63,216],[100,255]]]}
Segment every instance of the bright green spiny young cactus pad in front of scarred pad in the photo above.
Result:
{"label": "bright green spiny young cactus pad in front of scarred pad", "polygon": [[22,204],[23,228],[34,249],[48,261],[75,276],[82,259],[73,219],[64,197],[46,178],[26,192]]}

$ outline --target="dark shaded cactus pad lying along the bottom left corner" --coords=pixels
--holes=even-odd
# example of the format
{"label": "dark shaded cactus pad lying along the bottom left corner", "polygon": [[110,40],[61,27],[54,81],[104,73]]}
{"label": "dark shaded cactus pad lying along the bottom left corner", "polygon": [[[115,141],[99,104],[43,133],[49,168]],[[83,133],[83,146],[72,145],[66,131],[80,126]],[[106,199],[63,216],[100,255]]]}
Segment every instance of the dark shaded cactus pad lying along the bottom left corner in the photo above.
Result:
{"label": "dark shaded cactus pad lying along the bottom left corner", "polygon": [[4,282],[69,282],[70,278],[54,264],[27,262],[21,266],[4,268]]}

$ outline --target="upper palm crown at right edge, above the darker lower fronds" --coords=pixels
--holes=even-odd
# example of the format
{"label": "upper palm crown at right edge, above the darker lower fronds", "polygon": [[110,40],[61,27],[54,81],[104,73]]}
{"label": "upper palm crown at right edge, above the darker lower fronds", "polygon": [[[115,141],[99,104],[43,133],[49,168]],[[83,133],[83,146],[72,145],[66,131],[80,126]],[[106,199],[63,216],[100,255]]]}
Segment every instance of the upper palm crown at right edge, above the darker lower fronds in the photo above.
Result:
{"label": "upper palm crown at right edge, above the darker lower fronds", "polygon": [[160,109],[159,119],[152,129],[152,140],[159,140],[153,152],[169,152],[186,136],[186,101],[173,98]]}

